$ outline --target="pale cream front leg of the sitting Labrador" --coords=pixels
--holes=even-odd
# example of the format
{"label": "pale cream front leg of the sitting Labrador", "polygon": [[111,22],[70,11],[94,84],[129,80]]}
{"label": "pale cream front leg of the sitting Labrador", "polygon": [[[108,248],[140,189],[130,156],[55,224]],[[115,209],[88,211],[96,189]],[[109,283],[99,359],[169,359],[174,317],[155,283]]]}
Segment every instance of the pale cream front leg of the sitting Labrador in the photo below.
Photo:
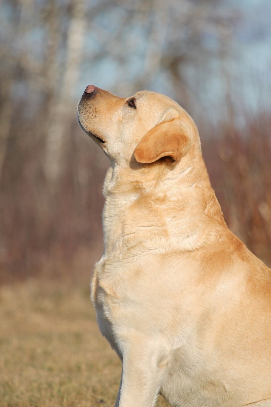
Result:
{"label": "pale cream front leg of the sitting Labrador", "polygon": [[125,346],[115,407],[155,405],[165,366],[160,361],[161,352],[153,343],[137,340]]}

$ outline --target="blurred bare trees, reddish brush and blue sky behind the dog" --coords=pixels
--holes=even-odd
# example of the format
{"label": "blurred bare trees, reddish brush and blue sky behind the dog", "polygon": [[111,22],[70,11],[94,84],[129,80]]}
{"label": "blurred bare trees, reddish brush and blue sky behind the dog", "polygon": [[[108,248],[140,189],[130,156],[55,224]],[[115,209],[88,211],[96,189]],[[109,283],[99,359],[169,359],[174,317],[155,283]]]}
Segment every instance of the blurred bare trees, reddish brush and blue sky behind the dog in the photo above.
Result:
{"label": "blurred bare trees, reddish brush and blue sky behind the dog", "polygon": [[164,93],[194,118],[229,228],[271,266],[269,0],[2,0],[0,281],[89,280],[103,152],[76,105],[94,84]]}

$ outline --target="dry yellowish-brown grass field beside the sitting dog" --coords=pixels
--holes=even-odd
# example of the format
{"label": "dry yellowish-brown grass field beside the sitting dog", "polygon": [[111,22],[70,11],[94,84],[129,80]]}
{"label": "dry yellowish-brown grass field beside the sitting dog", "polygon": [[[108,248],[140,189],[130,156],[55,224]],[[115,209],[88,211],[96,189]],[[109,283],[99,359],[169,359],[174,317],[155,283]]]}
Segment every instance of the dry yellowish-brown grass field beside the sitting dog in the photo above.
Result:
{"label": "dry yellowish-brown grass field beside the sitting dog", "polygon": [[83,282],[0,287],[1,407],[114,406],[121,365]]}

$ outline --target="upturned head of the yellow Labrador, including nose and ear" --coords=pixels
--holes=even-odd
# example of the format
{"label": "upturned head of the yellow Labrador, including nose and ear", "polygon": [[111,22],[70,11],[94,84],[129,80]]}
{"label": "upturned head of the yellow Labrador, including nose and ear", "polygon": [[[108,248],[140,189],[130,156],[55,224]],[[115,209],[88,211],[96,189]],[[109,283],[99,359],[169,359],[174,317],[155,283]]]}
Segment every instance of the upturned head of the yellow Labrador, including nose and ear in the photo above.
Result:
{"label": "upturned head of the yellow Labrador, including nose and ear", "polygon": [[120,98],[88,85],[78,105],[78,120],[117,164],[177,164],[193,147],[200,150],[192,118],[167,96],[141,91]]}

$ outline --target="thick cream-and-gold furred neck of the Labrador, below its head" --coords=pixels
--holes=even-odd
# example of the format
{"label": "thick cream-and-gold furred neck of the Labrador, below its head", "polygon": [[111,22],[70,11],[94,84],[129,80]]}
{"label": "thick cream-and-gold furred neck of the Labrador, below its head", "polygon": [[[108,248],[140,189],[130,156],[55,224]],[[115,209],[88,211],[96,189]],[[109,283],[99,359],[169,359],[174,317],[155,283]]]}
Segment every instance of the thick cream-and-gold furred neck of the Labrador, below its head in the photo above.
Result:
{"label": "thick cream-and-gold furred neck of the Labrador, below its head", "polygon": [[111,166],[104,195],[105,254],[155,250],[157,242],[160,250],[192,251],[226,227],[201,151],[175,166]]}

